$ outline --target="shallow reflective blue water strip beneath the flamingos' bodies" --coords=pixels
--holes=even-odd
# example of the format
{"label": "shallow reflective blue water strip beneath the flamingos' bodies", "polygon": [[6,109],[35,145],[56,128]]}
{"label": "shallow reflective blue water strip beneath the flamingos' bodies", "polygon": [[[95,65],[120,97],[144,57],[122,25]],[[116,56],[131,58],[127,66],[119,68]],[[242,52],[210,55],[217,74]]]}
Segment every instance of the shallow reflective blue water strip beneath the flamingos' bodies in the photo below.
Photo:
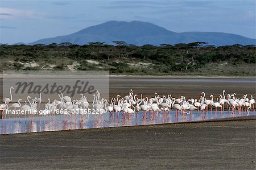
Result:
{"label": "shallow reflective blue water strip beneath the flamingos' bodies", "polygon": [[[121,126],[137,126],[137,125],[156,125],[163,123],[178,123],[178,122],[198,122],[209,121],[212,119],[223,119],[232,117],[246,116],[247,112],[231,111],[208,111],[199,112],[193,111],[191,114],[179,113],[175,111],[164,113],[153,113],[147,111],[139,111],[137,114],[110,114],[105,113],[104,117],[108,117],[108,121],[104,121],[103,115],[79,115],[74,114],[71,117],[66,115],[51,115],[42,117],[30,118],[6,118],[0,120],[0,134],[17,134],[27,132],[43,132],[43,131],[60,131],[60,130],[77,130],[85,128],[102,128],[102,127],[121,127]],[[255,111],[251,111],[250,115],[256,115]]]}

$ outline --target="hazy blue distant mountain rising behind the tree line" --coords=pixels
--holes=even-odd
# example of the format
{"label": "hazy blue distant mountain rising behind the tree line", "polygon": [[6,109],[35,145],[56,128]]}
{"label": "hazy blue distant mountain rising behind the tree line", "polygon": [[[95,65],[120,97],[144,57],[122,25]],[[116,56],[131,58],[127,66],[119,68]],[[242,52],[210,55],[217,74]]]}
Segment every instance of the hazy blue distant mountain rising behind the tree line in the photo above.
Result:
{"label": "hazy blue distant mountain rising behind the tree line", "polygon": [[88,42],[125,41],[127,44],[159,45],[163,43],[191,43],[207,42],[210,45],[256,44],[255,39],[236,34],[222,32],[172,32],[148,22],[118,22],[109,21],[96,26],[88,27],[73,34],[41,39],[32,44],[51,44],[69,42],[72,44],[88,44]]}

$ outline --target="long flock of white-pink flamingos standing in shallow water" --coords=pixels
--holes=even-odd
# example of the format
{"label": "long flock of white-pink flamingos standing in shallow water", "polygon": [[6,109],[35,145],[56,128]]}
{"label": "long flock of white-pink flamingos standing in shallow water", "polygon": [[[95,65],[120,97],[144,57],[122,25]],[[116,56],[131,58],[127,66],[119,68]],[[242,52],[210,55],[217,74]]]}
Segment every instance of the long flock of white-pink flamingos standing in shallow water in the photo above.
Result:
{"label": "long flock of white-pink flamingos standing in shallow water", "polygon": [[[13,86],[10,88],[10,98],[3,98],[3,103],[0,105],[2,119],[6,118],[6,114],[5,118],[3,118],[4,111],[7,113],[7,110],[16,111],[16,109],[30,110],[44,117],[48,115],[51,116],[51,114],[56,115],[56,113],[62,111],[63,115],[66,116],[65,118],[67,118],[65,120],[63,119],[65,122],[72,118],[72,114],[74,113],[85,115],[84,110],[88,110],[89,108],[101,110],[102,113],[110,113],[112,117],[116,118],[119,117],[119,113],[122,113],[122,118],[129,118],[131,114],[138,114],[139,111],[141,111],[144,119],[152,119],[155,117],[156,113],[161,112],[165,115],[166,112],[170,112],[171,109],[176,110],[176,115],[179,114],[179,111],[180,114],[191,114],[193,110],[205,113],[208,112],[209,109],[211,111],[215,109],[215,112],[218,110],[222,112],[225,107],[227,110],[231,110],[232,114],[238,111],[239,114],[246,112],[247,115],[249,115],[251,109],[255,111],[255,99],[253,95],[250,96],[250,99],[247,98],[247,94],[243,95],[242,98],[236,98],[236,93],[226,94],[225,90],[214,100],[212,94],[209,98],[205,98],[205,92],[202,92],[198,99],[186,99],[185,96],[174,98],[171,94],[160,97],[158,93],[155,93],[152,98],[143,97],[142,94],[138,97],[138,94],[134,94],[131,89],[127,96],[121,97],[117,95],[115,98],[110,99],[110,102],[108,102],[107,99],[101,98],[100,92],[97,91],[96,94],[93,94],[94,99],[92,106],[89,105],[87,98],[83,94],[81,94],[81,98],[72,100],[71,97],[63,96],[63,93],[59,92],[59,99],[55,99],[51,102],[48,98],[48,102],[44,105],[43,110],[39,109],[42,104],[42,92],[40,92],[39,98],[27,96],[27,100],[24,101],[24,105],[22,105],[22,103],[20,103],[22,99],[18,99],[16,103],[11,103],[13,100],[11,90],[14,90]],[[148,113],[151,113],[151,116]],[[32,117],[33,115],[34,114],[32,114]],[[19,114],[18,116],[20,119]],[[86,119],[86,116],[84,118]],[[83,121],[84,118],[82,117],[81,121]]]}

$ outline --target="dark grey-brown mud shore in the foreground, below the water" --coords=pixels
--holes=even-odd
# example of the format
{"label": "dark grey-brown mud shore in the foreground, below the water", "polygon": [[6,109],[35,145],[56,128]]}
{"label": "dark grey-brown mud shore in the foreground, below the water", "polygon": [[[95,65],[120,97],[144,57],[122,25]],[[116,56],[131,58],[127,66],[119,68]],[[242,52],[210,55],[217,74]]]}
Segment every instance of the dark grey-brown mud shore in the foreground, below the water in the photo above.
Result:
{"label": "dark grey-brown mud shore in the foreground, below the water", "polygon": [[1,169],[255,169],[249,119],[1,135]]}

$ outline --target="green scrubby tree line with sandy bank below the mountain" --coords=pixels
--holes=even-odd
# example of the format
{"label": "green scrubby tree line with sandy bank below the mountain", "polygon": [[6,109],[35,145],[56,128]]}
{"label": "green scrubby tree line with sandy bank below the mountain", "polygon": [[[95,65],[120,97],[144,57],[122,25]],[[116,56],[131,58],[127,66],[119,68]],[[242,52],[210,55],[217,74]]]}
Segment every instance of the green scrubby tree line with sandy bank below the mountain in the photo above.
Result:
{"label": "green scrubby tree line with sandy bank below the mountain", "polygon": [[110,74],[255,76],[256,46],[205,42],[136,46],[89,42],[87,45],[0,44],[0,70],[109,71]]}

